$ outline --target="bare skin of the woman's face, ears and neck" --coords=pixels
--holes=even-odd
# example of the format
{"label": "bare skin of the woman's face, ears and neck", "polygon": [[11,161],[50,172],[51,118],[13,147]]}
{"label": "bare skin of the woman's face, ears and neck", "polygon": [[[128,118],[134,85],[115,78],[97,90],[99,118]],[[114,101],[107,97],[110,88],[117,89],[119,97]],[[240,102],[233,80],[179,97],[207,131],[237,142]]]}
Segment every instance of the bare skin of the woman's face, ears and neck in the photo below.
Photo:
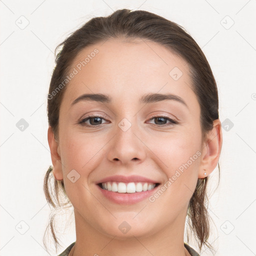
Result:
{"label": "bare skin of the woman's face, ears and neck", "polygon": [[[48,129],[53,174],[64,180],[74,207],[76,243],[69,255],[189,255],[183,245],[187,206],[197,178],[217,165],[220,120],[202,141],[200,106],[190,88],[188,65],[162,45],[109,39],[81,50],[70,70],[94,48],[99,52],[66,87],[57,140]],[[175,66],[183,73],[178,80],[169,75]],[[174,100],[140,104],[139,97],[149,92],[176,94],[188,107]],[[108,94],[112,102],[80,101],[71,106],[83,93]],[[93,113],[107,118],[97,126],[77,124]],[[161,126],[163,122],[152,116],[162,114],[178,124]],[[127,131],[118,126],[123,118],[131,123]],[[93,120],[86,123],[93,125]],[[96,180],[115,174],[141,175],[164,184],[196,151],[201,155],[154,202],[147,198],[119,205],[96,187]],[[67,177],[72,169],[80,175],[74,183]],[[123,221],[131,226],[126,234],[118,228]]]}

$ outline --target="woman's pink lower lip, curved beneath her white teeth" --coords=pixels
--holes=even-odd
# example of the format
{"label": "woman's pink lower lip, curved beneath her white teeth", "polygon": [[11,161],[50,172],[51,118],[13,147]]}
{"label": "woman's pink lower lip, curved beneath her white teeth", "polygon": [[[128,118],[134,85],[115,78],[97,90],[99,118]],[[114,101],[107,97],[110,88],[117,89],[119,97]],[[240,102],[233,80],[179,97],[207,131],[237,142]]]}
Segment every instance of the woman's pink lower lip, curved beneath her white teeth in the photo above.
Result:
{"label": "woman's pink lower lip, curved beneath her white teeth", "polygon": [[141,192],[135,192],[135,193],[118,193],[118,192],[112,192],[112,191],[103,189],[99,185],[96,185],[96,186],[98,187],[98,189],[100,189],[101,193],[107,199],[118,204],[133,204],[133,203],[140,202],[148,198],[158,188],[158,186],[155,186],[153,189],[147,190],[147,191],[141,191]]}

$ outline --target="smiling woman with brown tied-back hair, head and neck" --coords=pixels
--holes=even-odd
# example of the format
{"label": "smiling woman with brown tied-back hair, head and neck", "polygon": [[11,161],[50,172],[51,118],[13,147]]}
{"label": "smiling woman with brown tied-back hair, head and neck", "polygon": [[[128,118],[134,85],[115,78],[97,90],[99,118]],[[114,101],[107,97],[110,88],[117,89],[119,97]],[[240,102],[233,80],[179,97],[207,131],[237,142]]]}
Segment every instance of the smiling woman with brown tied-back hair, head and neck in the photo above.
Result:
{"label": "smiling woman with brown tied-back hair, head and neck", "polygon": [[128,9],[90,19],[60,46],[44,192],[55,208],[59,191],[68,198],[76,241],[59,256],[199,255],[183,241],[186,216],[200,251],[213,250],[205,189],[222,133],[199,46],[174,22]]}

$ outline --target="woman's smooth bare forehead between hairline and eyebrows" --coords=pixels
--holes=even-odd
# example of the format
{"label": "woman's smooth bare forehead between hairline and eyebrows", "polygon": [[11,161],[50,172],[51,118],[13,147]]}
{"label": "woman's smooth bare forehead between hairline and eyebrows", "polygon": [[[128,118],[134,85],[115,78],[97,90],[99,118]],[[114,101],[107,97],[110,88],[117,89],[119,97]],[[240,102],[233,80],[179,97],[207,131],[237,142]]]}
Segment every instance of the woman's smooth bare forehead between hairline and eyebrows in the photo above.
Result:
{"label": "woman's smooth bare forehead between hairline and eyebrows", "polygon": [[90,45],[75,57],[70,71],[74,69],[64,93],[65,105],[83,93],[111,94],[123,102],[150,92],[171,92],[196,104],[188,64],[150,40],[108,39]]}

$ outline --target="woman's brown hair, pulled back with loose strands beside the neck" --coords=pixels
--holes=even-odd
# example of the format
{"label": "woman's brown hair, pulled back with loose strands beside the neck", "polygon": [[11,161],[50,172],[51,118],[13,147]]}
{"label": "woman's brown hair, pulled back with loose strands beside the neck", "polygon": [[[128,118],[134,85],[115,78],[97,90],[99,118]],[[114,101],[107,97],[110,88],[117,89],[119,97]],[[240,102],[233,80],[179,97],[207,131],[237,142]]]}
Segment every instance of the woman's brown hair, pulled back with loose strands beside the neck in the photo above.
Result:
{"label": "woman's brown hair, pulled back with loose strands beside the neck", "polygon": [[[172,53],[186,60],[192,89],[200,105],[200,126],[202,139],[205,141],[207,131],[213,127],[213,120],[218,119],[219,116],[216,82],[202,50],[182,26],[148,11],[131,11],[129,9],[118,9],[106,17],[91,18],[56,47],[56,65],[50,80],[48,94],[50,97],[48,96],[47,102],[48,124],[52,127],[54,137],[58,139],[59,106],[66,86],[55,93],[54,97],[52,97],[52,92],[56,91],[59,84],[66,78],[72,61],[80,50],[109,38],[149,39],[165,46]],[[207,212],[207,180],[208,177],[198,178],[187,209],[188,225],[195,234],[200,251],[202,244],[211,251],[214,250],[207,242],[210,229]],[[63,180],[56,180],[53,177],[51,165],[45,174],[43,189],[47,202],[54,209],[65,205],[72,206],[66,196]],[[63,196],[59,197],[59,192],[62,192]],[[61,202],[63,198],[64,202]],[[54,217],[55,214],[50,217],[46,230],[50,227],[57,249],[59,242],[54,232]],[[189,240],[188,232],[186,234],[187,240]]]}

